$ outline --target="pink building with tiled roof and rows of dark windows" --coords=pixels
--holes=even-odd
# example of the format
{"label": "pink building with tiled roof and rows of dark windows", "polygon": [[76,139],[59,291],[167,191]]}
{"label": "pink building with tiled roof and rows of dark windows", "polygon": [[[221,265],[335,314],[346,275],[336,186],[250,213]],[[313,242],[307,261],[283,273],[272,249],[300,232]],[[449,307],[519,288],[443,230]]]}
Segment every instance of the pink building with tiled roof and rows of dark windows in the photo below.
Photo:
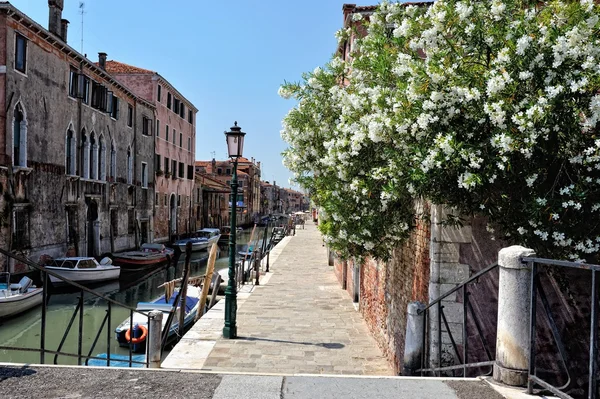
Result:
{"label": "pink building with tiled roof and rows of dark windows", "polygon": [[198,109],[157,72],[117,61],[106,61],[106,70],[156,106],[155,241],[189,232]]}

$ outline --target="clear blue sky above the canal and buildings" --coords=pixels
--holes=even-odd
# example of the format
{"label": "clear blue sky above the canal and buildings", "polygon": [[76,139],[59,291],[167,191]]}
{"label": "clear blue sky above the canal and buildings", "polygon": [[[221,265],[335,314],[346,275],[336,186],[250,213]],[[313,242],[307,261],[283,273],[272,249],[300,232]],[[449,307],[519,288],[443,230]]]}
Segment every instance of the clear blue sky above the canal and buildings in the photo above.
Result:
{"label": "clear blue sky above the canal and buildings", "polygon": [[[48,28],[46,0],[9,0]],[[81,51],[80,0],[64,1],[67,43]],[[336,49],[342,0],[84,0],[83,53],[160,73],[196,108],[196,160],[227,158],[224,131],[238,121],[244,156],[262,180],[289,183],[281,120],[295,105],[284,81],[324,65]],[[364,5],[376,3],[367,2]],[[361,4],[363,5],[363,4]]]}

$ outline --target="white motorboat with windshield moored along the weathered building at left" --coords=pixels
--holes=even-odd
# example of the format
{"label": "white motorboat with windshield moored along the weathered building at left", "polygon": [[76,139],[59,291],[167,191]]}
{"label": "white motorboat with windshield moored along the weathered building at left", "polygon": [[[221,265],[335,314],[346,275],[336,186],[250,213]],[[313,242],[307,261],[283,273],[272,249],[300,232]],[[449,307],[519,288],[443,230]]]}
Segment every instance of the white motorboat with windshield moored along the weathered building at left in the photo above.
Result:
{"label": "white motorboat with windshield moored along the weathered building at left", "polygon": [[[83,284],[119,278],[121,268],[111,263],[110,258],[104,258],[98,263],[94,258],[71,257],[53,259],[45,267],[61,277]],[[50,281],[52,284],[63,283],[63,280],[52,275]]]}

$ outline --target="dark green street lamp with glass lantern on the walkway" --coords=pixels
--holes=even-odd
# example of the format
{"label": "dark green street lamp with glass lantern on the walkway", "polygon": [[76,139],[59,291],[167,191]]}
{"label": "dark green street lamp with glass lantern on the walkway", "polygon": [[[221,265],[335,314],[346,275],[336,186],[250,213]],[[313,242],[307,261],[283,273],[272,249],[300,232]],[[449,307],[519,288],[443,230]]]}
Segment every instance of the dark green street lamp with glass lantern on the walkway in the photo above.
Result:
{"label": "dark green street lamp with glass lantern on the walkway", "polygon": [[237,293],[235,284],[235,239],[236,239],[236,213],[237,213],[237,162],[244,150],[244,136],[242,128],[237,125],[225,132],[227,150],[229,157],[233,160],[233,176],[231,178],[231,229],[229,231],[229,282],[225,289],[225,327],[223,337],[237,338],[237,326],[235,324],[237,314]]}

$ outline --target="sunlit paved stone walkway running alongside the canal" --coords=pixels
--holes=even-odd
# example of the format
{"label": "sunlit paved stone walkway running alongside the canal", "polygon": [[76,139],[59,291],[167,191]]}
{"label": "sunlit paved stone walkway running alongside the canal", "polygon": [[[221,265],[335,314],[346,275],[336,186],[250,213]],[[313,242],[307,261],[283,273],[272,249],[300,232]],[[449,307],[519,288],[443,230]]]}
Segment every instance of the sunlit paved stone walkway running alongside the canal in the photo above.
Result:
{"label": "sunlit paved stone walkway running alongside the canal", "polygon": [[[272,273],[239,294],[238,339],[221,336],[224,301],[163,362],[166,368],[282,374],[392,375],[343,291],[312,223],[273,252]],[[248,290],[248,288],[246,288]]]}

